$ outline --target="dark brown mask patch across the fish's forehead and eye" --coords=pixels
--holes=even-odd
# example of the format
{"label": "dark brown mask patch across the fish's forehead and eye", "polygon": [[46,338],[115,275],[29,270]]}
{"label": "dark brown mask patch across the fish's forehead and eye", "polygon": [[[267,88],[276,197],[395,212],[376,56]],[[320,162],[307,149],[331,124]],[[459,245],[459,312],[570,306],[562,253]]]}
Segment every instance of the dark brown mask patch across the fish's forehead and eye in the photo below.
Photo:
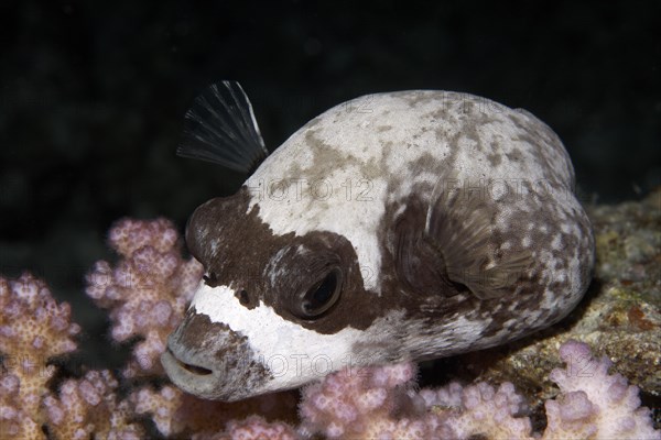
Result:
{"label": "dark brown mask patch across the fish's forehead and eye", "polygon": [[[365,292],[358,257],[346,238],[328,231],[277,235],[259,218],[259,206],[248,211],[249,201],[246,187],[235,196],[212,199],[195,210],[186,230],[191,253],[207,273],[216,274],[217,285],[229,286],[239,296],[246,290],[246,307],[263,301],[284,319],[324,334],[347,327],[367,329],[382,316],[382,307],[390,307]],[[343,273],[338,304],[317,319],[301,319],[292,311],[294,301],[332,264]]]}

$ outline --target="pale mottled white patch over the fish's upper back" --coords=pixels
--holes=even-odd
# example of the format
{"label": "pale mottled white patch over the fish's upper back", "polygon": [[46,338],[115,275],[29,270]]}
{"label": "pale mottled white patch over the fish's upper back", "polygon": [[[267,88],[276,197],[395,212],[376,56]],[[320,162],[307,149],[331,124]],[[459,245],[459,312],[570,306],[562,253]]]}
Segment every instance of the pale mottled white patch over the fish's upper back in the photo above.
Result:
{"label": "pale mottled white patch over the fish's upper back", "polygon": [[[446,118],[440,118],[440,109],[448,110]],[[478,128],[477,135],[485,144],[496,143],[496,151],[478,151],[473,133],[459,132],[462,125],[456,121],[476,111],[491,120]],[[513,139],[518,135],[510,119],[513,112],[524,123],[549,132],[554,144],[540,148]],[[455,136],[458,148],[451,145]],[[531,160],[542,148],[546,167]],[[516,151],[521,152],[519,161],[502,160]],[[416,174],[413,164],[427,154],[441,160],[437,169]],[[494,165],[489,158],[492,155],[501,157],[499,164]],[[392,187],[398,178],[401,184]],[[367,276],[366,289],[379,292],[376,274],[381,251],[377,232],[386,205],[405,199],[415,185],[433,188],[440,180],[451,187],[481,186],[489,193],[486,197],[498,198],[502,186],[489,187],[489,179],[509,182],[514,186],[510,186],[510,193],[518,190],[516,186],[522,182],[560,183],[551,196],[578,205],[572,195],[574,175],[570,158],[560,140],[541,121],[524,110],[512,111],[485,98],[431,90],[369,95],[326,111],[292,134],[246,186],[252,190],[252,205],[260,207],[260,218],[277,234],[303,235],[313,230],[344,234],[354,244],[366,274],[375,275]],[[325,188],[333,190],[327,200]],[[431,191],[421,196],[431,202]],[[525,206],[525,194],[518,204]],[[562,221],[560,208],[557,220]],[[507,221],[508,212],[500,212],[497,223],[506,226]],[[556,275],[550,271],[549,277]]]}

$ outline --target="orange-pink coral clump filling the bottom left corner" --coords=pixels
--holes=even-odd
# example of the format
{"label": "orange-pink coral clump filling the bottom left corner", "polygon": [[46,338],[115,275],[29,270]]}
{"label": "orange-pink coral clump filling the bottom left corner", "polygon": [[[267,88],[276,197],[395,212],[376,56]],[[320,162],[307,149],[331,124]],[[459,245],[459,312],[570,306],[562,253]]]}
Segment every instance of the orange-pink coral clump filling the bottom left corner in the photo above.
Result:
{"label": "orange-pink coral clump filling the bottom left corner", "polygon": [[51,360],[76,349],[80,329],[69,318],[68,304],[58,304],[41,279],[0,277],[0,438],[45,439],[44,425],[53,439],[141,438],[110,372],[91,371],[50,391],[57,370]]}

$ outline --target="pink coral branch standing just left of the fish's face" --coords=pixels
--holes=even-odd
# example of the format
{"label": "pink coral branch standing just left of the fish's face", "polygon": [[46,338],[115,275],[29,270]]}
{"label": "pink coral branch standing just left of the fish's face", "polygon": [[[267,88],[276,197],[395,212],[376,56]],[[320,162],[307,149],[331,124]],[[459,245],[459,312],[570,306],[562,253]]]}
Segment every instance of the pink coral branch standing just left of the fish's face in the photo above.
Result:
{"label": "pink coral branch standing just left of the fish's face", "polygon": [[87,275],[87,295],[110,309],[112,339],[142,338],[124,375],[163,374],[159,358],[167,334],[182,320],[203,267],[194,258],[182,258],[178,233],[164,219],[120,220],[108,241],[122,258],[116,267],[105,261],[95,264]]}

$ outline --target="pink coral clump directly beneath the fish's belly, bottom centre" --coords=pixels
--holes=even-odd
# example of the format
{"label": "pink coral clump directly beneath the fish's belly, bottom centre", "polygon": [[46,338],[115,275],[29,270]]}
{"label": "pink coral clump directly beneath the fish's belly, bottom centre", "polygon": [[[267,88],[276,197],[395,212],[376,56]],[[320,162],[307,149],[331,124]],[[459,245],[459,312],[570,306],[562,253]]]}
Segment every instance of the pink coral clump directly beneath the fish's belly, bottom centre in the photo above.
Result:
{"label": "pink coral clump directly beneath the fish's belly, bottom centre", "polygon": [[303,391],[301,432],[328,439],[528,438],[513,385],[414,391],[413,364],[344,370]]}

